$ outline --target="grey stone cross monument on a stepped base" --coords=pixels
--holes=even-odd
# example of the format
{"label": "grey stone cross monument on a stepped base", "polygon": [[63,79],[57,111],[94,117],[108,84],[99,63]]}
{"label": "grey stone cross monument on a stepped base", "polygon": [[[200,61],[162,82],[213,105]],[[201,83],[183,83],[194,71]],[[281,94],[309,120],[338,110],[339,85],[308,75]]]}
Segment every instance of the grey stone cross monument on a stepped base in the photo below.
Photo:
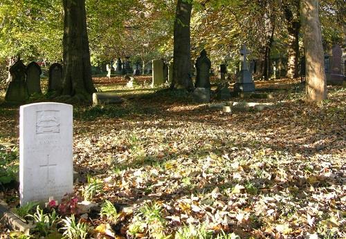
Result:
{"label": "grey stone cross monument on a stepped base", "polygon": [[255,84],[253,83],[253,77],[248,71],[248,64],[246,62],[246,55],[248,55],[248,50],[246,46],[243,45],[239,50],[241,68],[240,72],[237,74],[237,82],[234,86],[235,92],[252,92],[255,91]]}

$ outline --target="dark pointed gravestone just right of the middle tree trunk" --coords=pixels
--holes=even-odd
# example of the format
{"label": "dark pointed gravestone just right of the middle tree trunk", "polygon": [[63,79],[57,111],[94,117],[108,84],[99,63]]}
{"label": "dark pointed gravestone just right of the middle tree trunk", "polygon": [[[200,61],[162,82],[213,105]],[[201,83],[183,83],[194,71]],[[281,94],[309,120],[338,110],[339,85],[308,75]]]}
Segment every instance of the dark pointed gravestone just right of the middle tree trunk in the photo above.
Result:
{"label": "dark pointed gravestone just right of the middle tree trunk", "polygon": [[202,50],[201,54],[196,60],[196,69],[197,69],[197,76],[196,76],[196,84],[194,85],[196,88],[210,88],[210,67],[211,62],[210,59],[207,57],[206,50]]}

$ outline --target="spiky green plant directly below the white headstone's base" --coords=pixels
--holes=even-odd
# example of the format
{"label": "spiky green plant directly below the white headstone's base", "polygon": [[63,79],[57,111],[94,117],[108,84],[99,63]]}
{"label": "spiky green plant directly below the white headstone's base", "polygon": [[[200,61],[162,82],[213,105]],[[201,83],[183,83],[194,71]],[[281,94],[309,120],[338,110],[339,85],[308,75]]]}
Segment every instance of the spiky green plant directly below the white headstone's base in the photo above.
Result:
{"label": "spiky green plant directly below the white headstone's base", "polygon": [[48,236],[53,231],[54,224],[59,220],[55,210],[52,213],[45,214],[39,206],[37,206],[34,215],[28,215],[28,217],[33,218],[36,224],[34,231],[39,233],[40,236]]}

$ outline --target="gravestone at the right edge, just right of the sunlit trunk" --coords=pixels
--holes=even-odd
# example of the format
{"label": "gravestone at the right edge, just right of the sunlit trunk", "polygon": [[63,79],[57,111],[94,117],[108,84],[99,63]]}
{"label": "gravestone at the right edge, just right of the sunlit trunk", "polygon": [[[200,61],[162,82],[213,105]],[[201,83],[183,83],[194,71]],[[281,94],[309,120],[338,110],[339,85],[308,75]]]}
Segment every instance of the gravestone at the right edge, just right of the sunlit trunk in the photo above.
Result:
{"label": "gravestone at the right edge, just right of the sunlit trunk", "polygon": [[343,50],[339,45],[334,45],[333,48],[331,48],[331,54],[331,69],[330,73],[326,74],[327,84],[342,86],[345,79],[342,73]]}

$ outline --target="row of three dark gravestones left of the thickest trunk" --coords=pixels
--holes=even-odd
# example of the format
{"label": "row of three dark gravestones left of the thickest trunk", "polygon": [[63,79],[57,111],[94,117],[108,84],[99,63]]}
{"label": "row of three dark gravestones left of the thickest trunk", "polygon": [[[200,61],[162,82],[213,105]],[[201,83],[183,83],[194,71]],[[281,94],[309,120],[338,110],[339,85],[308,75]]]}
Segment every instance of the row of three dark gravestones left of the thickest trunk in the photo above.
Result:
{"label": "row of three dark gravestones left of the thickest trunk", "polygon": [[[28,66],[19,60],[9,68],[10,80],[6,90],[6,102],[25,102],[30,95],[42,93],[41,67],[35,62]],[[62,88],[62,65],[55,63],[49,68],[48,90],[60,90]]]}

